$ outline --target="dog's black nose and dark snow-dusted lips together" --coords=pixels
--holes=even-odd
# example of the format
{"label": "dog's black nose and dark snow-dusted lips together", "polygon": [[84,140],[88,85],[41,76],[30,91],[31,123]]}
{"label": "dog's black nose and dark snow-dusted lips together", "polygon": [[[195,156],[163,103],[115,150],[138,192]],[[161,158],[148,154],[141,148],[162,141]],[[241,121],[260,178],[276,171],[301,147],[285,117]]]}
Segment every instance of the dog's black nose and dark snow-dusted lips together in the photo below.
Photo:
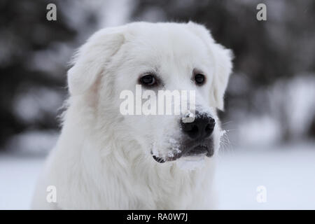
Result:
{"label": "dog's black nose and dark snow-dusted lips together", "polygon": [[181,120],[181,130],[184,134],[181,144],[181,153],[177,153],[172,157],[160,158],[153,155],[157,162],[173,161],[184,156],[205,155],[211,157],[214,155],[214,140],[212,133],[216,122],[207,113],[197,113],[195,120],[190,123],[184,123]]}

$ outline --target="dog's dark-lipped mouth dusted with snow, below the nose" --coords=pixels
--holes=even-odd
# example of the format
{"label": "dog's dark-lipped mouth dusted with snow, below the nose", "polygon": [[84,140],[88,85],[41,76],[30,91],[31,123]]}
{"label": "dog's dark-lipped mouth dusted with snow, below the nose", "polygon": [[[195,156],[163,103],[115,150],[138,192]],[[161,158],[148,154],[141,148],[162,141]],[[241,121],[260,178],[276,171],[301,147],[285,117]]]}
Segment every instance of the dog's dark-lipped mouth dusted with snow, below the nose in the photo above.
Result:
{"label": "dog's dark-lipped mouth dusted with snow, below the nose", "polygon": [[211,157],[214,155],[214,147],[213,146],[206,146],[204,144],[200,144],[197,146],[193,146],[191,148],[187,148],[185,151],[183,151],[182,153],[176,153],[173,156],[167,156],[165,158],[159,157],[157,155],[153,155],[153,153],[151,152],[151,155],[153,157],[153,159],[156,162],[159,163],[164,163],[164,162],[170,162],[170,161],[175,161],[179,158],[185,158],[185,157]]}

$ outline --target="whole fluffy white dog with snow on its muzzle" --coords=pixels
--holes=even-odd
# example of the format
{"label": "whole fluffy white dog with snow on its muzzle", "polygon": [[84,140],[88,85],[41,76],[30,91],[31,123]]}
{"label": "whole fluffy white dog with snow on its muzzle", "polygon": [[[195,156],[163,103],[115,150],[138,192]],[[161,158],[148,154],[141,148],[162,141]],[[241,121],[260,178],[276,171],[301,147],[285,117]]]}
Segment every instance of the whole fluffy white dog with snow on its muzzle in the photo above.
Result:
{"label": "whole fluffy white dog with snow on its muzzle", "polygon": [[[34,209],[211,209],[230,50],[202,25],[134,22],[97,31],[68,72],[62,132]],[[124,116],[120,93],[195,90],[195,117]],[[187,169],[190,163],[202,166]],[[186,166],[187,167],[187,166]]]}

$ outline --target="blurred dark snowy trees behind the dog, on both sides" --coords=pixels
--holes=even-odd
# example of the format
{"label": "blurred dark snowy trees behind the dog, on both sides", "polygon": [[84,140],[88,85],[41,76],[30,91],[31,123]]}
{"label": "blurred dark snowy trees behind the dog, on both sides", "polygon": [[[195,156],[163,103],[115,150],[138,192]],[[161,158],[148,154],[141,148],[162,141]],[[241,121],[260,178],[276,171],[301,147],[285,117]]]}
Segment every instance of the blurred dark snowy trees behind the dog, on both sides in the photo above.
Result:
{"label": "blurred dark snowy trees behind the dog, on both sides", "polygon": [[[46,20],[48,3],[57,21]],[[267,21],[256,20],[258,3]],[[140,20],[200,22],[233,50],[222,117],[235,142],[314,138],[315,1],[2,0],[0,8],[0,149],[49,150],[73,51],[101,27]]]}

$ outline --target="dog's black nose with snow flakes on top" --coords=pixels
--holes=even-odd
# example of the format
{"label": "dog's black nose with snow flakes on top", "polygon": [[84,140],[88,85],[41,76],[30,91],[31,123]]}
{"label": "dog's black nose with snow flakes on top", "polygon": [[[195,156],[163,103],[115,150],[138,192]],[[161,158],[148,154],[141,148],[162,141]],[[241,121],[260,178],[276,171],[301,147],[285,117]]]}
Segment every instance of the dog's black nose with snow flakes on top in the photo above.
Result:
{"label": "dog's black nose with snow flakes on top", "polygon": [[214,125],[216,122],[214,118],[196,112],[195,120],[192,123],[183,123],[181,127],[185,134],[191,139],[206,139],[214,132]]}

